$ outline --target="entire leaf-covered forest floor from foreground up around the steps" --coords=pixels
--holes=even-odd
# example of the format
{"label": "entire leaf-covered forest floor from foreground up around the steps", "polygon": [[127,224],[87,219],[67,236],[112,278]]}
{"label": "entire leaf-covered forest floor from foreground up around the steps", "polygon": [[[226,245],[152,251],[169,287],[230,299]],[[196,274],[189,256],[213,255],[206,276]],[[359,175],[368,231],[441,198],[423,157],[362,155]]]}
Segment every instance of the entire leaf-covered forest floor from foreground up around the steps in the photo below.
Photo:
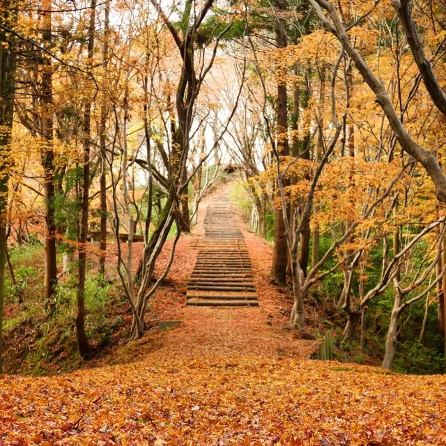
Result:
{"label": "entire leaf-covered forest floor from foreground up around the steps", "polygon": [[241,220],[259,307],[185,306],[207,202],[148,313],[181,325],[70,374],[1,376],[0,445],[446,445],[446,378],[307,359],[271,248]]}

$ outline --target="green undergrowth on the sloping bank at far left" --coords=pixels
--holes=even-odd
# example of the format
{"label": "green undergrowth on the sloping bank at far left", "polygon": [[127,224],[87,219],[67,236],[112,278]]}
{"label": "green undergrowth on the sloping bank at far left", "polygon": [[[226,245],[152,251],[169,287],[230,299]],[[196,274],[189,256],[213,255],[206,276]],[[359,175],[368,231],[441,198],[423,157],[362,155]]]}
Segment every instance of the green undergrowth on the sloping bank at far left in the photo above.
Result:
{"label": "green undergrowth on the sloping bank at far left", "polygon": [[[75,334],[75,275],[59,280],[54,312],[49,314],[43,293],[42,245],[11,249],[10,258],[18,290],[8,274],[3,323],[6,373],[37,376],[78,368],[82,361]],[[97,266],[92,265],[87,271],[86,334],[95,353],[100,354],[120,338],[127,306],[121,286],[102,281]]]}

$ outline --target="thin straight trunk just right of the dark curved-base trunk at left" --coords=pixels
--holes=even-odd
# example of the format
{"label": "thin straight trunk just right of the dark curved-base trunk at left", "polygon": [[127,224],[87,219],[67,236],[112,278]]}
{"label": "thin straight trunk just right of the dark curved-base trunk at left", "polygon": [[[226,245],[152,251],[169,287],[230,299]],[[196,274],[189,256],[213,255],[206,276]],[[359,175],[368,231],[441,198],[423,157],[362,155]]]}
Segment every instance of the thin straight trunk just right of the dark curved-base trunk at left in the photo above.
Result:
{"label": "thin straight trunk just right of the dark curved-base trunk at left", "polygon": [[107,250],[107,152],[105,132],[107,130],[107,93],[108,93],[108,54],[109,54],[109,12],[110,0],[105,3],[104,34],[102,43],[102,70],[104,71],[104,91],[100,107],[99,146],[100,146],[100,258],[99,272],[105,274],[105,252]]}

